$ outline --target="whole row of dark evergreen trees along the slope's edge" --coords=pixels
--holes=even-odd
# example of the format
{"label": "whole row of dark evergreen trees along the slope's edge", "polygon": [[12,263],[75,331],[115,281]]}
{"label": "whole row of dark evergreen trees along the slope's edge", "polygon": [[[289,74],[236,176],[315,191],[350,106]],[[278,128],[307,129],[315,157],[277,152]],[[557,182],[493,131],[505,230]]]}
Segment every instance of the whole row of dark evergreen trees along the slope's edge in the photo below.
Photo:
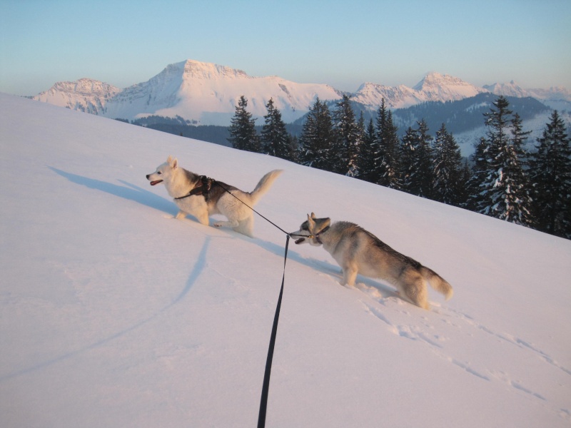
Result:
{"label": "whole row of dark evergreen trees along the slope's edge", "polygon": [[424,119],[398,137],[385,101],[368,123],[355,118],[348,96],[333,111],[319,98],[310,108],[300,136],[286,131],[270,99],[261,133],[241,96],[228,128],[234,148],[349,175],[423,198],[571,239],[571,146],[565,122],[553,111],[526,150],[531,131],[500,96],[483,113],[485,136],[468,160],[443,124],[435,136]]}

